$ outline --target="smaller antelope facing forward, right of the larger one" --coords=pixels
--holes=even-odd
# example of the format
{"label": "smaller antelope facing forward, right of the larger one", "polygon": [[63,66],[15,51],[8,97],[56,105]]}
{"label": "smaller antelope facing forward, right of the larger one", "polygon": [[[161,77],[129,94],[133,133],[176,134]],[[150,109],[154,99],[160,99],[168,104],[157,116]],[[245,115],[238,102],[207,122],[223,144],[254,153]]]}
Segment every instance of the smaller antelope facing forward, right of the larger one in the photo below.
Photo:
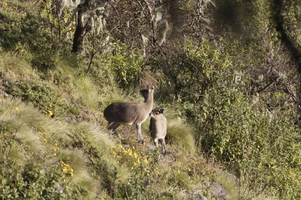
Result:
{"label": "smaller antelope facing forward, right of the larger one", "polygon": [[167,129],[167,119],[163,115],[164,109],[156,107],[149,113],[150,123],[149,132],[152,136],[156,147],[158,147],[158,140],[161,140],[163,153],[166,152],[165,136]]}

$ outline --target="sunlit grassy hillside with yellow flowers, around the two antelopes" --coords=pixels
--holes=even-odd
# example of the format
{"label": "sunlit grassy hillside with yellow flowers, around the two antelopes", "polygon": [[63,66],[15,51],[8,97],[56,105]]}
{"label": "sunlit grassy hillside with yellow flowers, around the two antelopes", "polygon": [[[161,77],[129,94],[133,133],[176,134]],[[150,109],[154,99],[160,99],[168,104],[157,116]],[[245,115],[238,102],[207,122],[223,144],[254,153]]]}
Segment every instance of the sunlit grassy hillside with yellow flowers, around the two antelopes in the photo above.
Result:
{"label": "sunlit grassy hillside with yellow flowers, around the two antelopes", "polygon": [[[70,81],[61,87],[17,55],[2,53],[1,63],[2,88],[10,94],[0,102],[2,199],[37,194],[67,199],[142,194],[148,199],[182,199],[192,197],[193,189],[208,192],[200,184],[220,173],[196,154],[193,130],[171,110],[166,114],[169,153],[159,159],[160,149],[154,149],[147,127],[143,128],[146,145],[137,143],[133,127],[120,128],[126,145],[105,130],[102,110],[110,100],[141,99],[124,96],[116,88],[100,88],[91,77],[66,75],[66,65],[47,71],[65,69],[61,78]],[[77,82],[92,86],[79,94]],[[85,97],[90,94],[97,98],[96,105]]]}

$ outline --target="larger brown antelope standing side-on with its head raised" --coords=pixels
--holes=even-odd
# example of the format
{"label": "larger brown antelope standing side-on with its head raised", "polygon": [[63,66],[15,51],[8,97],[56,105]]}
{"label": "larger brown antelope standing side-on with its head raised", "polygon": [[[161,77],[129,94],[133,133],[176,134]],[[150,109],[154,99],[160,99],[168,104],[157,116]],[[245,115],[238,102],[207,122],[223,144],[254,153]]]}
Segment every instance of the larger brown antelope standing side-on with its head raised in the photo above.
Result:
{"label": "larger brown antelope standing side-on with its head raised", "polygon": [[144,97],[143,103],[137,102],[115,102],[107,106],[103,115],[109,122],[107,129],[113,130],[114,133],[121,139],[117,133],[117,128],[123,125],[135,124],[137,130],[137,139],[143,143],[141,133],[141,123],[146,120],[150,111],[153,108],[154,100],[154,85],[147,86],[146,89],[140,91]]}

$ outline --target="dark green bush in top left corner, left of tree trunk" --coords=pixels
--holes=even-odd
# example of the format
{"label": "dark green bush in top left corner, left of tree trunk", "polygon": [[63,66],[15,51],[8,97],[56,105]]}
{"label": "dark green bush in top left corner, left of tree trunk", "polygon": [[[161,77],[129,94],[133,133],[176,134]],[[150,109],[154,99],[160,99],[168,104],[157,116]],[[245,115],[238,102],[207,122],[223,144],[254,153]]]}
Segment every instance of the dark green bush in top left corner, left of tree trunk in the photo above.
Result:
{"label": "dark green bush in top left corner, left of tree trunk", "polygon": [[[5,7],[0,15],[3,21],[0,25],[0,34],[3,35],[1,46],[4,49],[30,49],[32,52],[51,50],[51,30],[46,17],[38,12],[27,12],[17,1],[8,2]],[[18,9],[19,12],[16,12]]]}

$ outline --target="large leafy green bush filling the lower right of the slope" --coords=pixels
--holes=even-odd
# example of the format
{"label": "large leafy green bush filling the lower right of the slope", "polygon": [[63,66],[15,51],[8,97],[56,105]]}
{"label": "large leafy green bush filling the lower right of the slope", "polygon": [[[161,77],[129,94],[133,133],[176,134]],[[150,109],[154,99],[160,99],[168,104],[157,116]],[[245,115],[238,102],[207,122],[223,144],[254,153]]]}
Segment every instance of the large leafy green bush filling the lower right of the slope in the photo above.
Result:
{"label": "large leafy green bush filling the lower right of the slope", "polygon": [[301,137],[289,113],[281,111],[273,119],[265,111],[255,111],[253,103],[237,90],[209,90],[205,99],[203,149],[254,190],[267,187],[272,194],[298,199],[301,159],[296,148]]}

